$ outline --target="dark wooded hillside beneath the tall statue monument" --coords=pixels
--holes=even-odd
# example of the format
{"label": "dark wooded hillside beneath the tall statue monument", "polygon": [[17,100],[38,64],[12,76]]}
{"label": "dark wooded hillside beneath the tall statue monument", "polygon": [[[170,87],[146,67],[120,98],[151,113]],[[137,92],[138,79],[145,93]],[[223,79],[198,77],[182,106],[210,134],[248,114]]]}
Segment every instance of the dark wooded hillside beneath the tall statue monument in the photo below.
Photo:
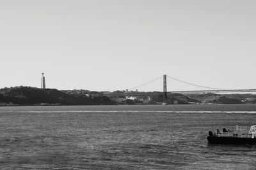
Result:
{"label": "dark wooded hillside beneath the tall statue monument", "polygon": [[1,106],[115,104],[108,97],[73,96],[57,89],[11,87],[0,89]]}

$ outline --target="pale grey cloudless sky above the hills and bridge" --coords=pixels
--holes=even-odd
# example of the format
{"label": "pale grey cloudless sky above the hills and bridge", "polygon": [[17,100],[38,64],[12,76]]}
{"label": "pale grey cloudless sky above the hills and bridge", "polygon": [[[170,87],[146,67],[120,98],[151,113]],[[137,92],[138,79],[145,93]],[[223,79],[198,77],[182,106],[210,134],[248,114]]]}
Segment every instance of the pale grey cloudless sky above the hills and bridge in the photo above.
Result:
{"label": "pale grey cloudless sky above the hills and bridge", "polygon": [[[1,0],[0,88],[256,89],[256,1]],[[199,90],[167,80],[167,90]],[[163,78],[139,87],[163,90]]]}

